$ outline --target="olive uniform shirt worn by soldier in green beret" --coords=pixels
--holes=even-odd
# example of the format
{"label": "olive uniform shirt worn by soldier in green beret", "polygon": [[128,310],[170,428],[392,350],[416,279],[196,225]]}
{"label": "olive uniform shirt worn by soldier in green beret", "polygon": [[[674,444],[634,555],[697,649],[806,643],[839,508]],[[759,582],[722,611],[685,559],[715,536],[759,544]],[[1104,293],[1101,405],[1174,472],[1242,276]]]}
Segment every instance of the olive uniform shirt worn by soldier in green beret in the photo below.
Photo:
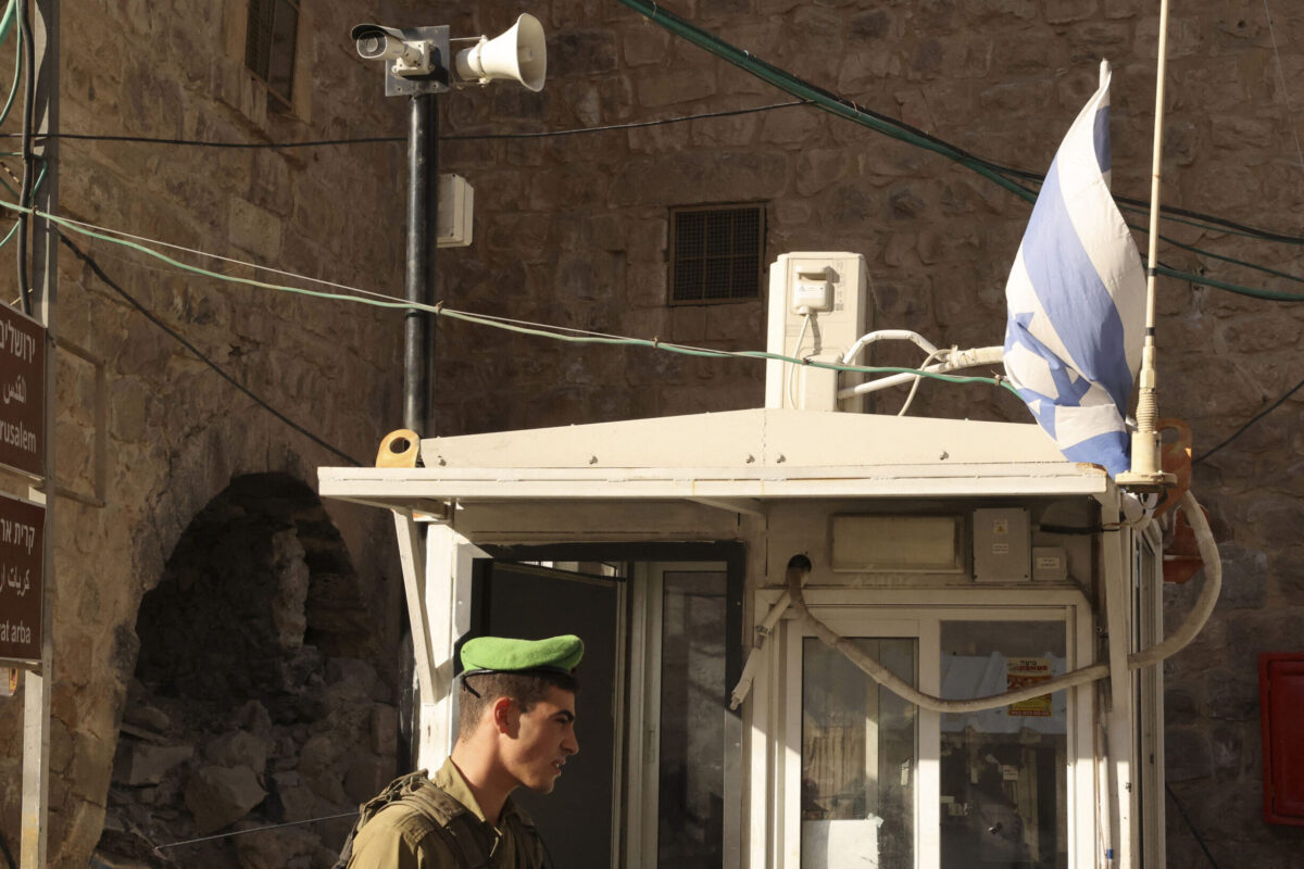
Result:
{"label": "olive uniform shirt worn by soldier in green beret", "polygon": [[[518,831],[533,831],[533,823],[511,797],[503,804],[496,827],[485,819],[452,758],[445,761],[430,778],[436,787],[471,810],[473,817],[464,818],[459,830],[471,829],[477,834],[481,851],[489,855],[489,861],[484,864],[488,869],[536,869],[544,865],[539,836],[518,835]],[[519,823],[510,822],[512,817]],[[450,851],[438,831],[430,829],[432,823],[432,818],[411,803],[385,806],[355,836],[348,869],[464,869],[459,855]]]}

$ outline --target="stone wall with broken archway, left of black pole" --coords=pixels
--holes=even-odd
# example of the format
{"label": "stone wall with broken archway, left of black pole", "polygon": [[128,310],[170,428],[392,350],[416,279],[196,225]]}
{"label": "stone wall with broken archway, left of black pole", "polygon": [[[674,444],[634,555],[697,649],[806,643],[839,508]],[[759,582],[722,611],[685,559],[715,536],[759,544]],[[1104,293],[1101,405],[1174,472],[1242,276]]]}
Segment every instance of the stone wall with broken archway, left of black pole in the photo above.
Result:
{"label": "stone wall with broken archway, left of black pole", "polygon": [[[60,122],[67,132],[214,142],[402,134],[402,107],[378,96],[377,72],[355,57],[347,39],[355,18],[378,14],[377,4],[304,4],[289,112],[269,108],[262,85],[245,70],[244,3],[60,5]],[[5,132],[17,129],[16,119]],[[214,254],[396,293],[403,233],[390,193],[402,184],[402,155],[400,145],[211,150],[64,139],[59,210]],[[373,461],[383,434],[400,425],[399,314],[228,285],[117,246],[73,240],[235,379],[363,464]],[[176,255],[216,271],[280,280]],[[276,472],[316,486],[318,465],[343,460],[223,382],[68,249],[59,257],[56,332],[106,371],[100,399],[107,425],[98,429],[94,367],[61,354],[52,438],[60,481],[90,498],[55,503],[50,861],[85,866],[100,839],[136,670],[137,610],[183,530],[235,477]],[[106,444],[103,506],[87,503],[100,470],[98,438]],[[376,601],[372,627],[379,641],[366,653],[376,659],[398,640],[400,580],[390,522],[379,511],[326,509]],[[391,691],[394,657],[386,654],[379,670]],[[21,722],[22,698],[0,700],[0,831],[14,848]]]}

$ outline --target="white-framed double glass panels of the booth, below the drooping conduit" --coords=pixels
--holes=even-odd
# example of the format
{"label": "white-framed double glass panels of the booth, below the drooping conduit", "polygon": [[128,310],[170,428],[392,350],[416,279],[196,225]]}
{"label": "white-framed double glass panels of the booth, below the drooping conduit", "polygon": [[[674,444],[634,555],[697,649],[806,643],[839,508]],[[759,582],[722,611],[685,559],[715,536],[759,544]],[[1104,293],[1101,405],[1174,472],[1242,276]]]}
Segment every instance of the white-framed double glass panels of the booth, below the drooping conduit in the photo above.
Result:
{"label": "white-framed double glass panels of the booth, below the drooping conduit", "polygon": [[[1065,595],[1047,593],[1041,606],[1015,606],[990,593],[947,597],[867,606],[853,590],[807,593],[811,612],[840,637],[945,700],[1035,685],[1089,659],[1090,614],[1080,598],[1056,606]],[[880,687],[801,623],[785,620],[781,631],[767,683],[780,702],[758,698],[752,718],[754,739],[769,731],[778,749],[768,865],[1091,865],[1090,688],[940,714]],[[754,754],[754,770],[760,760]]]}

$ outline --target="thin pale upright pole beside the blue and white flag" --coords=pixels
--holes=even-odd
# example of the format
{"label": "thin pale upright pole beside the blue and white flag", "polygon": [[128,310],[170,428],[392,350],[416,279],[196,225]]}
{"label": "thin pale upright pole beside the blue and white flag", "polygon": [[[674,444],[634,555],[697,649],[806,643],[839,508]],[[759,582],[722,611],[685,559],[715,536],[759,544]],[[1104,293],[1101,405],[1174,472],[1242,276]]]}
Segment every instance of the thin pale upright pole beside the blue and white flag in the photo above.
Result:
{"label": "thin pale upright pole beside the blue and white flag", "polygon": [[1141,349],[1141,390],[1137,396],[1137,430],[1132,433],[1132,469],[1118,482],[1132,491],[1162,491],[1175,478],[1164,474],[1159,460],[1159,401],[1154,370],[1154,276],[1159,257],[1159,177],[1163,169],[1163,83],[1168,65],[1168,0],[1159,3],[1159,65],[1154,86],[1154,155],[1150,168],[1150,245],[1146,254],[1145,344]]}

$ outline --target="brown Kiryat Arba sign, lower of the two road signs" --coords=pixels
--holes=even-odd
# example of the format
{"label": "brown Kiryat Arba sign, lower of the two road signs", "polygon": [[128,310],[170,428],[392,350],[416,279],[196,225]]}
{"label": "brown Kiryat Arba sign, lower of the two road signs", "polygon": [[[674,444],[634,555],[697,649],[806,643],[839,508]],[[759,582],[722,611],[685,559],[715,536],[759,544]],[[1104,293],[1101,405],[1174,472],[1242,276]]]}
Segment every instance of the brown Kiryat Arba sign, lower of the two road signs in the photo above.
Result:
{"label": "brown Kiryat Arba sign, lower of the two road signs", "polygon": [[0,495],[0,658],[40,659],[46,508]]}

